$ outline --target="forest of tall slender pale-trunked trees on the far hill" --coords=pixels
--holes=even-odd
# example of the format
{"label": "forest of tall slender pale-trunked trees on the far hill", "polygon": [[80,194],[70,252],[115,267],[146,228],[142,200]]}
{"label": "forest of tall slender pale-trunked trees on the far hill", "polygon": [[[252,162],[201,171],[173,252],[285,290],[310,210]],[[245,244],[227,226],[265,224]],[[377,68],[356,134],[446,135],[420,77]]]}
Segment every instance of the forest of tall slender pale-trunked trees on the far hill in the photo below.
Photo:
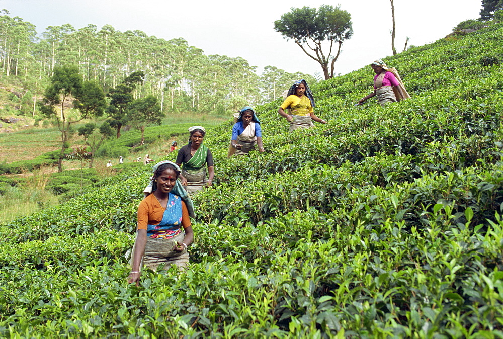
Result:
{"label": "forest of tall slender pale-trunked trees on the far hill", "polygon": [[24,100],[34,101],[54,67],[63,65],[77,65],[83,79],[98,81],[105,93],[142,71],[145,78],[135,95],[157,97],[163,112],[224,114],[274,100],[299,78],[315,80],[273,66],[259,75],[241,57],[205,55],[183,38],[166,41],[110,25],[77,30],[64,24],[38,34],[33,24],[0,11],[0,80],[16,79]]}

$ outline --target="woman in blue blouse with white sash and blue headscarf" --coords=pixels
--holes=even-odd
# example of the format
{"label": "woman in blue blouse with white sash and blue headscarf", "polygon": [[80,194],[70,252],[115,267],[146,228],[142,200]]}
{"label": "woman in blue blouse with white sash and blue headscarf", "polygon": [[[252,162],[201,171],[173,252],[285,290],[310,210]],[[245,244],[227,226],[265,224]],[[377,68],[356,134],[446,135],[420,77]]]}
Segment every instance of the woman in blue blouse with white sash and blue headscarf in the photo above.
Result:
{"label": "woman in blue blouse with white sash and blue headscarf", "polygon": [[255,115],[254,110],[249,107],[243,107],[239,112],[239,118],[232,127],[232,137],[228,156],[246,155],[255,146],[259,146],[259,152],[264,152],[262,144],[262,130],[260,121]]}

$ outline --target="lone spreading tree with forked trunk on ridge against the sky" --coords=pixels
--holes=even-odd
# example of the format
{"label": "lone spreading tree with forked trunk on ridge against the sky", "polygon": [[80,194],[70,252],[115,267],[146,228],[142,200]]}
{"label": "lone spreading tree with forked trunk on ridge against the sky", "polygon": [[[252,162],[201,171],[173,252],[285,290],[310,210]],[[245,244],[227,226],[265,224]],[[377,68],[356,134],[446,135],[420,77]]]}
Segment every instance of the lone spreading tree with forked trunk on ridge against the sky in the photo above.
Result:
{"label": "lone spreading tree with forked trunk on ridge against the sky", "polygon": [[[325,79],[333,77],[334,63],[341,53],[344,40],[353,35],[351,15],[339,6],[321,5],[318,10],[310,7],[292,8],[280,20],[274,22],[274,29],[285,39],[295,43],[323,69]],[[327,41],[328,52],[322,50],[322,43]],[[334,44],[336,55],[332,55]],[[330,66],[329,66],[330,65]]]}

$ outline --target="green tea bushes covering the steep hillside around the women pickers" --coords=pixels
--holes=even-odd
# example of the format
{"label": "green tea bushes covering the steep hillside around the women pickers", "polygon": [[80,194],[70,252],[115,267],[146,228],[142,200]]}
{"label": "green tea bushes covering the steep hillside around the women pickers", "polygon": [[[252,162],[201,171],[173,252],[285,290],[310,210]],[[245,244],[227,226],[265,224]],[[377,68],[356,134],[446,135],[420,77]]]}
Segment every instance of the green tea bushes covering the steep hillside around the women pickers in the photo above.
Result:
{"label": "green tea bushes covering the steep hillside around the women pickers", "polygon": [[370,67],[312,87],[328,125],[258,107],[263,154],[212,130],[188,272],[126,284],[146,167],[0,225],[0,336],[503,337],[502,36],[387,58],[412,98],[385,109],[353,106]]}

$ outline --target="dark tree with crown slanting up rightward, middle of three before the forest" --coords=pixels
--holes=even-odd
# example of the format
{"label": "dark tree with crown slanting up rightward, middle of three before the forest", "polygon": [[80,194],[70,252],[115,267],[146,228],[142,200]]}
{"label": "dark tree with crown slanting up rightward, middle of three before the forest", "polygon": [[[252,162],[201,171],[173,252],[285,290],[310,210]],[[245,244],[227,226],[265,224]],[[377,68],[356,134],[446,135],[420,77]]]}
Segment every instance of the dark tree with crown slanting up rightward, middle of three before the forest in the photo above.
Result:
{"label": "dark tree with crown slanting up rightward, middle of three before the forest", "polygon": [[133,72],[126,77],[117,87],[108,91],[107,97],[110,104],[107,107],[108,121],[117,130],[117,138],[121,136],[122,125],[126,122],[126,108],[134,100],[132,92],[136,86],[143,82],[145,74],[142,71]]}

